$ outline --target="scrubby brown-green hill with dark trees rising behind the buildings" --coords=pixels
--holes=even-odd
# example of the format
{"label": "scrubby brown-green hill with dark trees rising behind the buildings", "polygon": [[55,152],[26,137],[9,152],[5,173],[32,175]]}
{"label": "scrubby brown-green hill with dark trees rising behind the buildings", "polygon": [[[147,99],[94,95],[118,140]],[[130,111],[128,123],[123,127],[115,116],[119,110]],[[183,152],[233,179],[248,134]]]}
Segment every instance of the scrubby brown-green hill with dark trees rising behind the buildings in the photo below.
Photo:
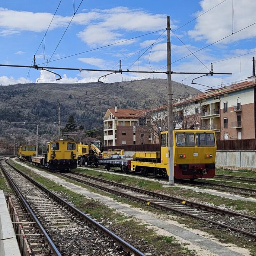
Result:
{"label": "scrubby brown-green hill with dark trees rising behind the buildings", "polygon": [[[172,82],[173,98],[197,94],[199,90]],[[39,135],[57,134],[58,102],[61,122],[73,115],[85,130],[103,125],[102,118],[108,108],[154,108],[160,94],[166,94],[166,79],[145,79],[115,84],[15,84],[0,86],[0,136],[14,134],[33,140],[36,124]],[[3,122],[4,121],[4,122]],[[11,123],[20,122],[20,123]],[[25,122],[25,124],[24,124]],[[11,124],[10,124],[11,123]],[[64,127],[65,124],[62,124]]]}

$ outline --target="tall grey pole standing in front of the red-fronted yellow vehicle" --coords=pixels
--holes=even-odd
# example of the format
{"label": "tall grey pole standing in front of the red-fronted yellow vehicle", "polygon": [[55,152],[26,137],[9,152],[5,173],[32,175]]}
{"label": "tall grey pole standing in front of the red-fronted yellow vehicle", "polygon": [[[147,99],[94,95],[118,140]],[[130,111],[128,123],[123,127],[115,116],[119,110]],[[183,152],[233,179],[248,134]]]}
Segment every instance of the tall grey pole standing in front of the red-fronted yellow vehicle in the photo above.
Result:
{"label": "tall grey pole standing in front of the red-fronted yellow vehicle", "polygon": [[[169,151],[169,185],[174,185],[173,178],[173,118],[172,118],[172,70],[171,70],[171,39],[170,16],[167,16],[167,113],[168,113],[168,151]],[[161,139],[161,138],[160,138]]]}

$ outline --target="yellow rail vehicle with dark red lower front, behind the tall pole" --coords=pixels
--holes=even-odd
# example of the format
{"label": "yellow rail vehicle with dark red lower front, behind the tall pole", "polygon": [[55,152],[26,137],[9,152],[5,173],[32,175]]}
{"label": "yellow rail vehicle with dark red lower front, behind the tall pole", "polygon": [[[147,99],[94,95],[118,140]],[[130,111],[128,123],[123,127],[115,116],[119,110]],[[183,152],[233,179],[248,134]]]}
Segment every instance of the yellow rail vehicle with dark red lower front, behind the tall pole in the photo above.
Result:
{"label": "yellow rail vehicle with dark red lower front, behind the tall pole", "polygon": [[[136,152],[131,171],[144,175],[169,175],[167,132],[161,132],[160,152]],[[212,178],[215,175],[216,138],[214,131],[173,131],[173,168],[175,179]]]}

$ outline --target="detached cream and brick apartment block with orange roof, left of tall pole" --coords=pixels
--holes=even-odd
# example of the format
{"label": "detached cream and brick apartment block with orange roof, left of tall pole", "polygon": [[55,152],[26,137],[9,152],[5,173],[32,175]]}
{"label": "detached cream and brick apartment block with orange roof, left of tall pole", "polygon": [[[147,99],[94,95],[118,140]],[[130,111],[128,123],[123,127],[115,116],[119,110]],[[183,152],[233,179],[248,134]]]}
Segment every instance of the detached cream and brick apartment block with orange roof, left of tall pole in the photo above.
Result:
{"label": "detached cream and brick apartment block with orange roof, left of tall pole", "polygon": [[109,108],[103,117],[104,146],[151,144],[145,111]]}

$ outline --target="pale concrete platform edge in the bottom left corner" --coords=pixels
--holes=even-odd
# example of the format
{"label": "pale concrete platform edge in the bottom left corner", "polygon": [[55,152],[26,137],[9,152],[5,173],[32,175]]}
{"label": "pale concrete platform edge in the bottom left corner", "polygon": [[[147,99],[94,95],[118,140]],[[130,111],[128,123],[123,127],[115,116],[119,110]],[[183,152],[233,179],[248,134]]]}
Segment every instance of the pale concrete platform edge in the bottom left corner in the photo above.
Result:
{"label": "pale concrete platform edge in the bottom left corner", "polygon": [[0,190],[0,255],[21,256],[3,190]]}

